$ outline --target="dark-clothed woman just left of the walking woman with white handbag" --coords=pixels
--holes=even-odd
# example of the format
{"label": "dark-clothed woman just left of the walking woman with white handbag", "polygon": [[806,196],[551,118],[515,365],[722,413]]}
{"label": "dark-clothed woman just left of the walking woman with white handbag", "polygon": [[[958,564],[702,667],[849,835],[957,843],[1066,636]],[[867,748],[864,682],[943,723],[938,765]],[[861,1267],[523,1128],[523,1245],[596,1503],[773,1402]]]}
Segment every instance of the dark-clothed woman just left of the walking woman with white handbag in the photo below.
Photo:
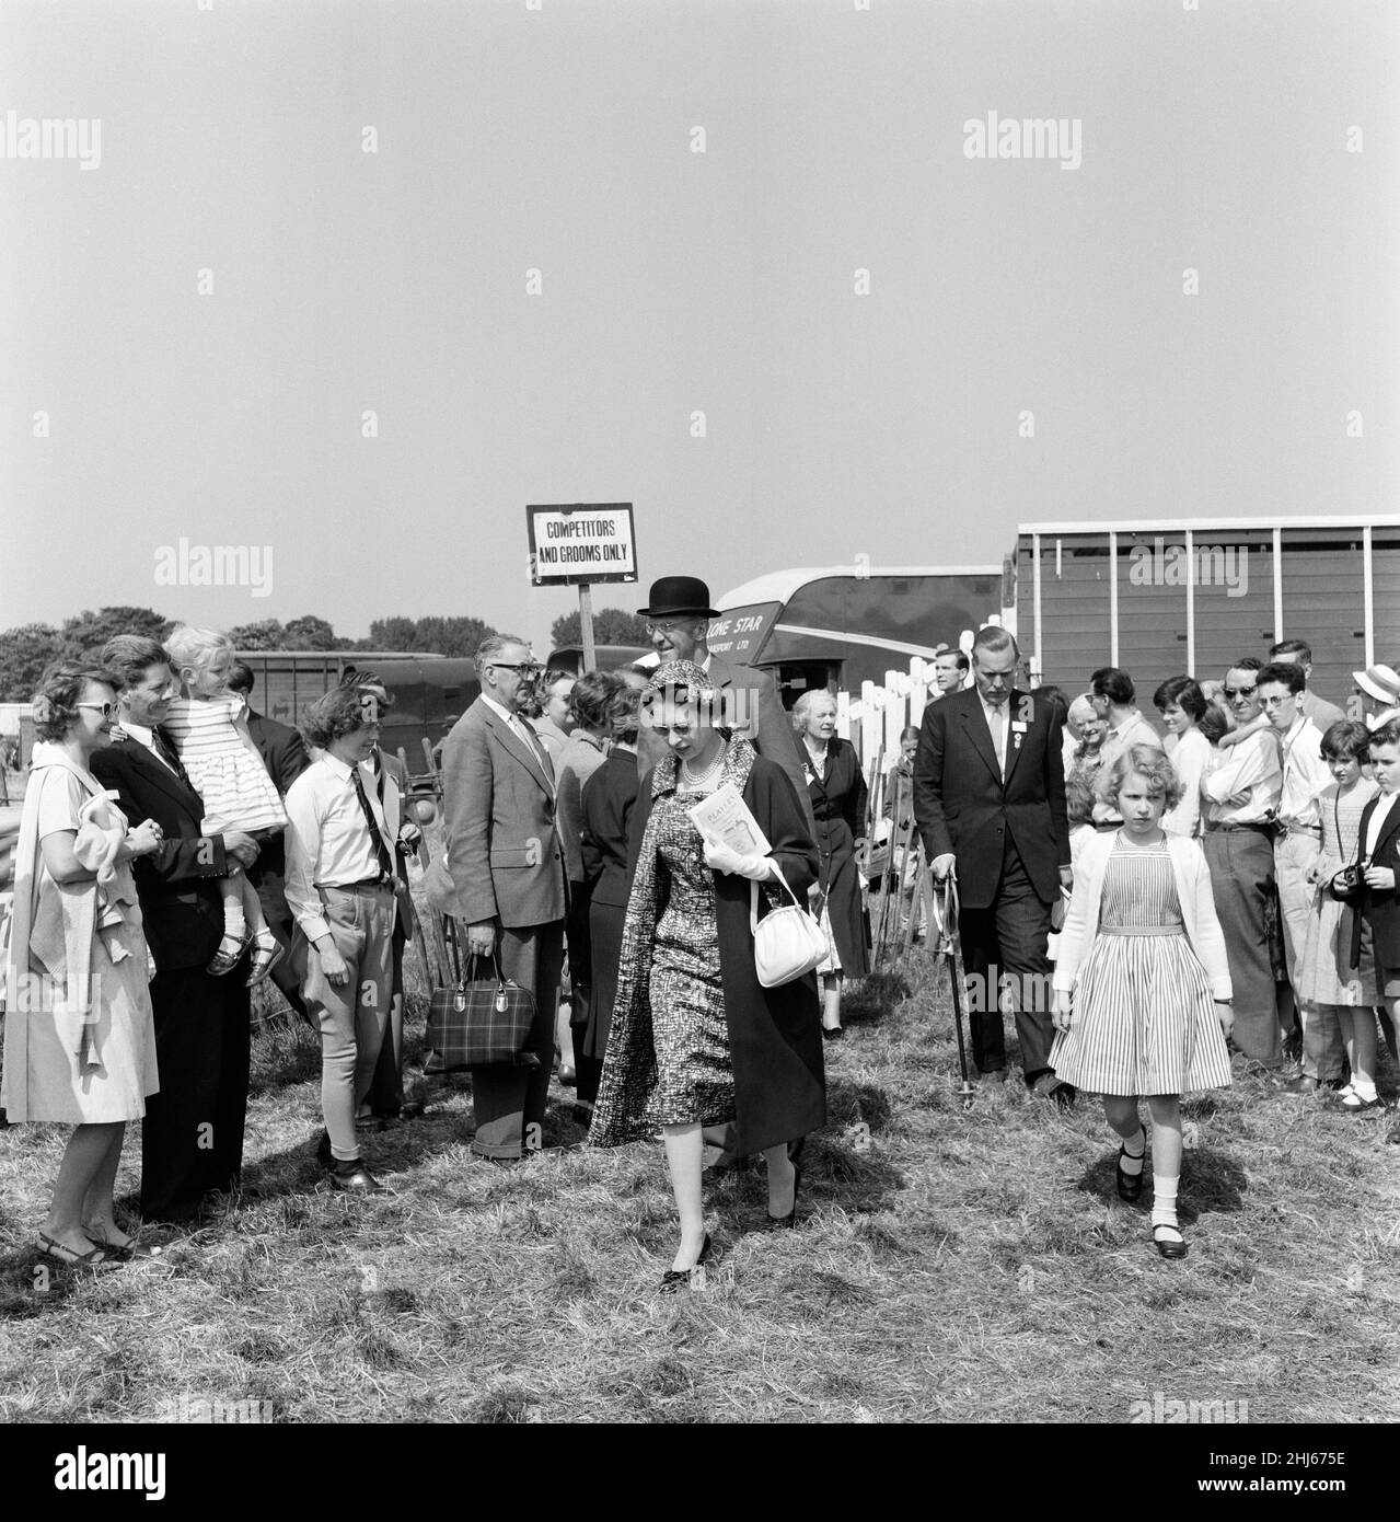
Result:
{"label": "dark-clothed woman just left of the walking woman with white handbag", "polygon": [[618,992],[618,957],[627,918],[627,823],[636,802],[638,688],[622,686],[607,705],[612,749],[583,784],[583,875],[589,892],[592,944],[592,997],[589,1023],[578,1055],[578,1102],[589,1110],[598,1097],[598,1079],[612,1029]]}

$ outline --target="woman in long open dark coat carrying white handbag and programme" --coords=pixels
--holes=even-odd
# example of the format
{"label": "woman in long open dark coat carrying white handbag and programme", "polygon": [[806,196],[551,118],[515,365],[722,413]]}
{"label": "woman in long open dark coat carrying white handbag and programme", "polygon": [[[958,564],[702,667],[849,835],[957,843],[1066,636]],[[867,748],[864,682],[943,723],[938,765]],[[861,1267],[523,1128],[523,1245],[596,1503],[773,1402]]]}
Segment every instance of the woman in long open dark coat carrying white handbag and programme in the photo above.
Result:
{"label": "woman in long open dark coat carrying white handbag and programme", "polygon": [[[817,854],[787,775],[718,728],[723,694],[689,661],[663,665],[642,694],[670,755],[632,811],[632,890],[618,992],[589,1138],[616,1146],[662,1131],[680,1245],[662,1289],[705,1260],[705,1128],[730,1126],[737,1155],[762,1152],[768,1219],[793,1225],[799,1172],[790,1143],[826,1117],[817,991],[811,974],[764,989],[753,966],[750,883],[778,903],[781,871],[800,898]],[[768,839],[768,855],[702,842],[689,817],[732,784]]]}

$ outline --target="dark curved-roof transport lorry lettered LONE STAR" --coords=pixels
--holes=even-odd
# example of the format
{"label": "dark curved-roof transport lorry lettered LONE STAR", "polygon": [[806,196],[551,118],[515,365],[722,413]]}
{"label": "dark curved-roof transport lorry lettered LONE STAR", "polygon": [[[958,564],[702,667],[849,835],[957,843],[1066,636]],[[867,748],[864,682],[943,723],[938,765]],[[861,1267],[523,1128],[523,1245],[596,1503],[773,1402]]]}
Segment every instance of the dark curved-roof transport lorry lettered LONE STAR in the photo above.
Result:
{"label": "dark curved-roof transport lorry lettered LONE STAR", "polygon": [[775,571],[715,601],[709,648],[772,671],[788,708],[813,688],[860,693],[998,619],[1010,574],[1010,562]]}

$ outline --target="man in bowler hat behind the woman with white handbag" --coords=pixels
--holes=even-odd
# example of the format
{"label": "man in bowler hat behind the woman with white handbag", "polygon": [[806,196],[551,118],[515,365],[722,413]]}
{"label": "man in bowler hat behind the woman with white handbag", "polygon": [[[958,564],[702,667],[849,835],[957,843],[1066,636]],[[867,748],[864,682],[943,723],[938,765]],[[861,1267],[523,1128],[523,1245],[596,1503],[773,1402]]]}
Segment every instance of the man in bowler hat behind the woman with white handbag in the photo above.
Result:
{"label": "man in bowler hat behind the woman with white handbag", "polygon": [[[660,656],[668,661],[694,661],[724,694],[724,721],[733,720],[733,732],[753,744],[761,756],[776,761],[791,779],[810,829],[816,829],[811,796],[802,775],[797,732],[782,706],[778,686],[767,671],[726,661],[711,653],[709,621],[718,612],[709,606],[709,587],[691,575],[663,575],[651,583],[647,607],[638,609],[647,619],[647,635]],[[667,753],[665,741],[647,724],[638,737],[638,770],[645,776]]]}

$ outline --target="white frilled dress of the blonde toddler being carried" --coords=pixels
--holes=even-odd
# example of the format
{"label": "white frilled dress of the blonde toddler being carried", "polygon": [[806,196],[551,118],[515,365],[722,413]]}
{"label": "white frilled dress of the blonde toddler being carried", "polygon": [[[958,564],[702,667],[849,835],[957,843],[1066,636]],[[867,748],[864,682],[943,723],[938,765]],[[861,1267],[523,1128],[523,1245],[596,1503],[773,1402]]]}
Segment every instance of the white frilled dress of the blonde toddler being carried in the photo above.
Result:
{"label": "white frilled dress of the blonde toddler being carried", "polygon": [[248,705],[242,697],[181,697],[164,721],[195,791],[204,799],[201,829],[285,829],[286,810],[257,746],[239,728]]}

